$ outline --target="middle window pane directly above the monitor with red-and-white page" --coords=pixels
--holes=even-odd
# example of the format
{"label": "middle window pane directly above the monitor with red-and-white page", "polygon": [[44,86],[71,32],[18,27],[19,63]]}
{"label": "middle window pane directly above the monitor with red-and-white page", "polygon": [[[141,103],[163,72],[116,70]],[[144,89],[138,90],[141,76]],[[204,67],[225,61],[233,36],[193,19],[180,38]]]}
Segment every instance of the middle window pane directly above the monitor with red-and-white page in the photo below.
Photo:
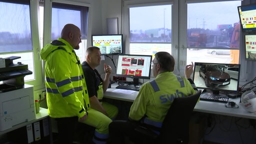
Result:
{"label": "middle window pane directly above the monitor with red-and-white page", "polygon": [[171,5],[130,7],[129,20],[130,54],[171,53]]}

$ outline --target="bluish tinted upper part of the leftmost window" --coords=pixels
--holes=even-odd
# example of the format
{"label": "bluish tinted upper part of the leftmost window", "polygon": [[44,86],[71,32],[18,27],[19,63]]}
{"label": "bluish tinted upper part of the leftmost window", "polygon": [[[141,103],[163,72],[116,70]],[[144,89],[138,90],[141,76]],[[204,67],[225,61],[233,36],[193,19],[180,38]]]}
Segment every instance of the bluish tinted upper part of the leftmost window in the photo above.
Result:
{"label": "bluish tinted upper part of the leftmost window", "polygon": [[22,1],[0,1],[0,53],[32,50],[29,0]]}

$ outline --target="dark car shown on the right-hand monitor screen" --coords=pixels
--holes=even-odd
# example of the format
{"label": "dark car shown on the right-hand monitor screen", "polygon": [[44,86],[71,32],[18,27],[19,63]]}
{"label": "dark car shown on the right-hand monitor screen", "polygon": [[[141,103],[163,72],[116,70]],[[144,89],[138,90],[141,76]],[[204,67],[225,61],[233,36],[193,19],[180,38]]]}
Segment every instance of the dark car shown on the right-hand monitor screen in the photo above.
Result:
{"label": "dark car shown on the right-hand monitor screen", "polygon": [[222,65],[202,64],[199,76],[203,78],[207,87],[225,86],[230,83],[230,75],[222,69]]}

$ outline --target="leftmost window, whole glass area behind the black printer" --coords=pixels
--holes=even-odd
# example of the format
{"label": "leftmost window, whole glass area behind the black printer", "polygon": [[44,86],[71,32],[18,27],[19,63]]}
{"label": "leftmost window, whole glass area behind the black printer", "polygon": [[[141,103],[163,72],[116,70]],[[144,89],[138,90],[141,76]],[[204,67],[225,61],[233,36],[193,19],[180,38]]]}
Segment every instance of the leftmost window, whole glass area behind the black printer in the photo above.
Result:
{"label": "leftmost window, whole glass area behind the black printer", "polygon": [[0,0],[0,7],[0,57],[20,56],[13,63],[27,64],[33,74],[24,80],[32,80],[35,76],[29,0]]}

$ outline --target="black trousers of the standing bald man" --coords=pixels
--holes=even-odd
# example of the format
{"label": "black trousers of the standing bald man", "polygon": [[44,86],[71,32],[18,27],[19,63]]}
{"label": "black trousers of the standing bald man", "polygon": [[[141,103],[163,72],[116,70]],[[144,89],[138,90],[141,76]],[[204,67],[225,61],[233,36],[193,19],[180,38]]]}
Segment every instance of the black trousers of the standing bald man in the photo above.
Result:
{"label": "black trousers of the standing bald man", "polygon": [[78,117],[62,117],[55,118],[55,120],[57,121],[59,143],[72,143],[78,124]]}

